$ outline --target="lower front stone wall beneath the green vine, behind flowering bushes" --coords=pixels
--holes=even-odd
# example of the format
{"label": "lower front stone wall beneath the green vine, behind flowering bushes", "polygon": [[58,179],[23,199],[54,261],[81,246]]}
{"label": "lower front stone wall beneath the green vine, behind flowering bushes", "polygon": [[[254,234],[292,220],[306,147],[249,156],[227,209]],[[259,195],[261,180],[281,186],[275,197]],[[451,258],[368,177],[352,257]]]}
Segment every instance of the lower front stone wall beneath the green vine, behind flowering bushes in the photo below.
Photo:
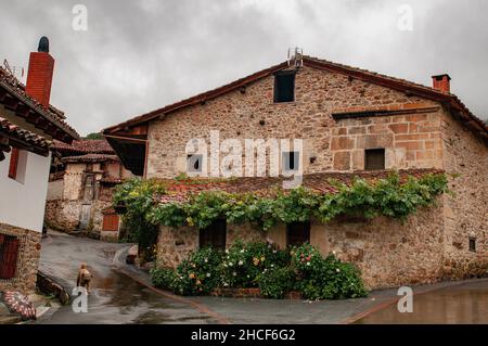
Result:
{"label": "lower front stone wall beneath the green vine, behind flowering bushes", "polygon": [[[310,243],[323,255],[356,264],[370,289],[420,284],[442,278],[442,206],[419,210],[406,221],[376,218],[368,221],[341,219],[328,223],[311,221]],[[227,247],[235,240],[270,240],[286,247],[286,227],[265,233],[251,225],[228,225]],[[192,227],[162,227],[158,266],[176,267],[198,247],[198,230]]]}

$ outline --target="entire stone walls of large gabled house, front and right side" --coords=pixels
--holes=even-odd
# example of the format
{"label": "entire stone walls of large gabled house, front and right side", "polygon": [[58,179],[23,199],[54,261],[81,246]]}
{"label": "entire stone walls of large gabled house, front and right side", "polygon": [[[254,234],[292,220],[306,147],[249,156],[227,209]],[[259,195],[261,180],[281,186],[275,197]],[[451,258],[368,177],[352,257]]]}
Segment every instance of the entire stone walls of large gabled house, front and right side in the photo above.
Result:
{"label": "entire stone walls of large gabled house, front and right side", "polygon": [[[312,221],[310,242],[323,254],[336,252],[357,264],[369,287],[487,273],[488,148],[441,103],[307,66],[296,74],[295,102],[273,103],[273,84],[268,76],[152,120],[146,177],[185,171],[187,142],[202,138],[209,144],[210,130],[220,131],[220,141],[301,138],[304,174],[363,170],[364,150],[385,149],[386,169],[460,174],[450,183],[454,195],[440,197],[436,207],[404,222]],[[192,228],[162,227],[159,265],[175,267],[197,247],[197,234]],[[228,246],[235,239],[267,238],[286,245],[285,226],[264,234],[229,225],[227,236]],[[475,251],[468,248],[470,239]]]}

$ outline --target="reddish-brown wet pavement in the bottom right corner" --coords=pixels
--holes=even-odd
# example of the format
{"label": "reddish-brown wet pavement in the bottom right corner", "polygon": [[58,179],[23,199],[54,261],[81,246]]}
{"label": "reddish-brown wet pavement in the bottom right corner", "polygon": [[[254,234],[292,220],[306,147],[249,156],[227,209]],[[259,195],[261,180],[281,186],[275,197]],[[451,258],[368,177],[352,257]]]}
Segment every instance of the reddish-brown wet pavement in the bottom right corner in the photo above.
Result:
{"label": "reddish-brown wet pavement in the bottom right corner", "polygon": [[413,312],[397,304],[356,323],[488,323],[488,280],[463,283],[413,296]]}

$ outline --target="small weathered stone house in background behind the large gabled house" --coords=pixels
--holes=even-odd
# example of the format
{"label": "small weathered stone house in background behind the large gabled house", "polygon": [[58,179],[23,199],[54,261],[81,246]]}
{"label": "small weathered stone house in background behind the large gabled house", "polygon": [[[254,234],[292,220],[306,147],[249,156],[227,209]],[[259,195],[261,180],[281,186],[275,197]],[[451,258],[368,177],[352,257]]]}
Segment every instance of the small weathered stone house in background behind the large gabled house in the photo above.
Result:
{"label": "small weathered stone house in background behind the large gabled house", "polygon": [[104,139],[54,141],[51,150],[46,223],[64,232],[118,240],[121,225],[112,208],[112,195],[131,172]]}

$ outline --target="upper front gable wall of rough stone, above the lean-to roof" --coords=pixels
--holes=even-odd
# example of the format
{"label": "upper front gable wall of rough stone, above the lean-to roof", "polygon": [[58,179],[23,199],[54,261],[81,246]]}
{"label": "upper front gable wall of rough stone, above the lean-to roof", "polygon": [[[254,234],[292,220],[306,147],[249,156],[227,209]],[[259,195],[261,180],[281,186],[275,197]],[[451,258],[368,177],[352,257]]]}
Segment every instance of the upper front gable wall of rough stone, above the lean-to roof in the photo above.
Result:
{"label": "upper front gable wall of rough stone, above the lean-to roof", "polygon": [[[390,166],[426,167],[438,149],[438,116],[414,114],[419,107],[438,106],[434,102],[310,67],[296,75],[295,102],[273,103],[273,85],[274,78],[269,76],[247,86],[245,92],[231,91],[150,123],[147,178],[172,178],[185,171],[187,142],[204,139],[208,145],[210,130],[220,131],[220,141],[304,139],[306,174],[358,169],[361,165],[352,167],[351,155],[360,156],[361,150],[376,145],[389,146],[391,159],[399,155]],[[385,106],[412,114],[359,121],[332,117],[335,112]],[[387,136],[380,139],[383,134]],[[345,139],[337,139],[343,136]],[[346,146],[343,141],[348,142]],[[336,152],[349,150],[354,153]]]}

